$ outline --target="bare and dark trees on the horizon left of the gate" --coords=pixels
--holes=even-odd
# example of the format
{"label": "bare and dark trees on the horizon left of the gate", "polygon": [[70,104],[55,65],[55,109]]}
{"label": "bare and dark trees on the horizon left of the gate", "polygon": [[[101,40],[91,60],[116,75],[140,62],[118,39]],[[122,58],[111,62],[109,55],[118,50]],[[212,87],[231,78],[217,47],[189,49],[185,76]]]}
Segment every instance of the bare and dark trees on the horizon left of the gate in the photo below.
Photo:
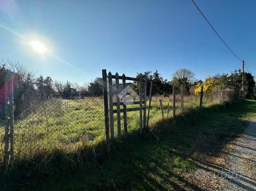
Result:
{"label": "bare and dark trees on the horizon left of the gate", "polygon": [[7,73],[13,75],[14,86],[14,114],[17,116],[29,106],[30,100],[49,98],[55,96],[70,99],[77,96],[102,95],[102,78],[97,77],[90,83],[79,85],[76,82],[53,81],[51,77],[39,77],[27,68],[26,65],[16,61],[7,60],[0,63],[0,119],[4,119],[5,99],[4,84]]}

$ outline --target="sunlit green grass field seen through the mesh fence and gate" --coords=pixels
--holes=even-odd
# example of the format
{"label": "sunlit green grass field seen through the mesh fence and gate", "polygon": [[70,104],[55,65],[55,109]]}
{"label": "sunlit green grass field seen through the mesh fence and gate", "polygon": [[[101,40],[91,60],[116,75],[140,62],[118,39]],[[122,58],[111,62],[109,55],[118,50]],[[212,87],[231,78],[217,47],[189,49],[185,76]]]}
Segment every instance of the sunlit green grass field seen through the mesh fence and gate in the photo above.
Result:
{"label": "sunlit green grass field seen through the mesh fence and gate", "polygon": [[[115,97],[115,95],[113,96]],[[147,98],[148,99],[148,98]],[[219,93],[204,95],[203,106],[221,102]],[[115,101],[115,98],[113,99]],[[161,101],[160,101],[161,100]],[[184,111],[181,107],[181,95],[175,97],[176,115],[199,107],[199,95],[184,96]],[[152,96],[149,128],[153,128],[163,119],[173,116],[173,96]],[[129,105],[129,107],[137,107]],[[20,109],[22,108],[22,109]],[[121,106],[121,109],[123,106]],[[104,103],[102,97],[72,97],[63,99],[32,93],[26,102],[14,112],[14,158],[15,161],[34,159],[56,151],[79,152],[91,141],[105,139]],[[15,110],[15,103],[14,103]],[[5,96],[0,92],[0,162],[5,154]],[[128,134],[138,134],[140,129],[139,111],[127,113]],[[123,114],[121,113],[121,131],[123,134]],[[114,132],[117,136],[116,114],[114,114]]]}

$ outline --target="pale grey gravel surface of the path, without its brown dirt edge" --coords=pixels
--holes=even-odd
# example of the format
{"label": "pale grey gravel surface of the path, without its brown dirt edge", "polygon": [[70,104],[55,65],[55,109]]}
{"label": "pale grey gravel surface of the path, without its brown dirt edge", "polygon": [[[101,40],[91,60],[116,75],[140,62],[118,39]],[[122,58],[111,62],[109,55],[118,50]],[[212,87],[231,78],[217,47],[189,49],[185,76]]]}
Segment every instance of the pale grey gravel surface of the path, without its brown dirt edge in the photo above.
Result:
{"label": "pale grey gravel surface of the path, without its brown dirt edge", "polygon": [[256,120],[251,121],[244,134],[230,144],[226,168],[235,175],[221,181],[221,190],[256,191]]}

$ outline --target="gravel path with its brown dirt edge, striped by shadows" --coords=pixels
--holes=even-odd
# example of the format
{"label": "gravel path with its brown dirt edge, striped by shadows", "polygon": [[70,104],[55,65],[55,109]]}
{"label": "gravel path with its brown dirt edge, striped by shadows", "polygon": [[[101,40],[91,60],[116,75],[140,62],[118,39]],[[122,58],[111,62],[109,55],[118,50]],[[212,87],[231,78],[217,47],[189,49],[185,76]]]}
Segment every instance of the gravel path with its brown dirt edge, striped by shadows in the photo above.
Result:
{"label": "gravel path with its brown dirt edge, striped by shadows", "polygon": [[189,179],[201,190],[256,191],[256,119],[221,155],[196,163],[199,168]]}

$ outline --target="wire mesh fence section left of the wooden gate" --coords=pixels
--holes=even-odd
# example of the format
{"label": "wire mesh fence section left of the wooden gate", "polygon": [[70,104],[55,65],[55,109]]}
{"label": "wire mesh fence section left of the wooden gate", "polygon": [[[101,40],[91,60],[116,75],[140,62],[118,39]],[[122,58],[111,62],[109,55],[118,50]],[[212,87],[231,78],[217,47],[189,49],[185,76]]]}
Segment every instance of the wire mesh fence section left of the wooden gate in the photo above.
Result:
{"label": "wire mesh fence section left of the wooden gate", "polygon": [[[101,97],[67,100],[37,93],[30,96],[28,107],[14,120],[15,160],[33,159],[58,150],[76,152],[85,143],[104,135],[102,105]],[[1,137],[4,130],[1,123]]]}

